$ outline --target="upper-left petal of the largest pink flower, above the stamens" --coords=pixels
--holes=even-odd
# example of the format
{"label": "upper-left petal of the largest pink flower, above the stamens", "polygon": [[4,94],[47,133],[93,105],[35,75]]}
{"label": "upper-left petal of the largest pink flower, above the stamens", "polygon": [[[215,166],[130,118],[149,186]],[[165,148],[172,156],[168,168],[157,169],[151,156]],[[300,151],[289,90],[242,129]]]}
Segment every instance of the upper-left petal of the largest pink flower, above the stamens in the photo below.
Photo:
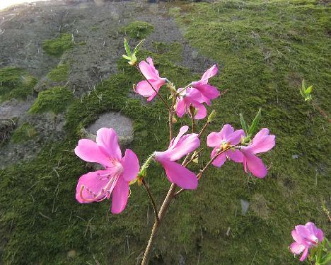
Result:
{"label": "upper-left petal of the largest pink flower, above the stamens", "polygon": [[79,140],[75,148],[75,154],[86,162],[102,164],[104,167],[110,165],[110,160],[101,152],[98,145],[89,139]]}

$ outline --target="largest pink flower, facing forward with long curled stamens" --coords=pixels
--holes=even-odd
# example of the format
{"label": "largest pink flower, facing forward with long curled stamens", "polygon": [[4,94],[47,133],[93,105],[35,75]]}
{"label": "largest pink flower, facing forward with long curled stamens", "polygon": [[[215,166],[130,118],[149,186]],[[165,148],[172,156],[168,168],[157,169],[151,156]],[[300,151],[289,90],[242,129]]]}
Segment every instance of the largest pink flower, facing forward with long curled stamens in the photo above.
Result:
{"label": "largest pink flower, facing forward with long curled stamens", "polygon": [[86,162],[96,162],[105,168],[80,177],[76,200],[91,203],[109,199],[112,194],[112,213],[121,213],[127,205],[129,181],[139,172],[136,154],[127,149],[122,157],[115,130],[108,128],[98,130],[96,143],[89,139],[79,140],[75,154]]}

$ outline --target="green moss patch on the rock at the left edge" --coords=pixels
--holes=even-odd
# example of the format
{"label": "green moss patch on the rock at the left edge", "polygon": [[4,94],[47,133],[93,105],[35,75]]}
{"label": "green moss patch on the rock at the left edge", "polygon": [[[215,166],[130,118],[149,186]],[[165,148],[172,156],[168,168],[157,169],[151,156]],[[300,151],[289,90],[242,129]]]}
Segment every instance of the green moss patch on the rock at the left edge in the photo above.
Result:
{"label": "green moss patch on the rock at the left edge", "polygon": [[37,79],[25,69],[4,67],[0,69],[0,102],[11,98],[25,99],[34,93]]}

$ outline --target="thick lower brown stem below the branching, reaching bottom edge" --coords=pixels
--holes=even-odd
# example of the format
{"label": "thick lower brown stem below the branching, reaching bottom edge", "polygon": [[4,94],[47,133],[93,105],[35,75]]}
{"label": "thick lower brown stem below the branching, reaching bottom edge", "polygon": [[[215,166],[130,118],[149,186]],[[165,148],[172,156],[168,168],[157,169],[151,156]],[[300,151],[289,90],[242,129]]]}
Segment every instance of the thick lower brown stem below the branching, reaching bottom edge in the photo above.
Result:
{"label": "thick lower brown stem below the branching, reaching bottom edge", "polygon": [[165,200],[162,203],[160,212],[158,212],[158,219],[160,220],[160,222],[156,222],[156,221],[154,222],[153,229],[152,229],[152,232],[151,232],[151,237],[149,237],[149,243],[147,244],[147,247],[145,249],[145,253],[144,253],[143,260],[141,261],[141,265],[146,265],[147,262],[149,261],[149,254],[151,253],[151,247],[152,247],[153,241],[156,237],[156,232],[158,232],[158,227],[160,226],[160,224],[161,224],[161,222],[162,222],[162,220],[165,216],[165,213],[168,210],[170,202],[173,199],[176,187],[177,187],[176,184],[171,184],[171,186],[169,188],[169,191],[168,191],[168,194],[167,194],[167,196],[165,197]]}

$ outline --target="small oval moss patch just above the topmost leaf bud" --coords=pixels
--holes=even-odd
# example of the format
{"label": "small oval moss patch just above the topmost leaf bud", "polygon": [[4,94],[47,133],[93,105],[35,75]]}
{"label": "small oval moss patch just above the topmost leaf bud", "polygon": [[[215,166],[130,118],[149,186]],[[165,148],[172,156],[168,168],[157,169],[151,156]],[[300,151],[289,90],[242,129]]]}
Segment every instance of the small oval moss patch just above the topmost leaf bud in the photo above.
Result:
{"label": "small oval moss patch just above the topmost leaf bud", "polygon": [[154,26],[144,21],[134,21],[120,28],[120,33],[129,35],[130,38],[144,39],[153,33]]}

